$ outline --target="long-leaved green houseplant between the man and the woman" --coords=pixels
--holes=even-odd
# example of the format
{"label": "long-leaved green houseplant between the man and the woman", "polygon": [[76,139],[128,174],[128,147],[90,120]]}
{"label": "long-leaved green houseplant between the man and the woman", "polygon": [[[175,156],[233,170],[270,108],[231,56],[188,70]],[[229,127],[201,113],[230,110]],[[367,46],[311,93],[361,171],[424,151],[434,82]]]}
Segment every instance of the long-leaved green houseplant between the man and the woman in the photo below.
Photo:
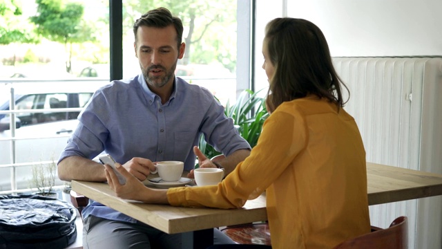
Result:
{"label": "long-leaved green houseplant between the man and the woman", "polygon": [[[233,124],[237,127],[242,138],[249,142],[253,148],[258,142],[261,133],[262,124],[269,116],[265,107],[265,98],[257,96],[259,93],[253,93],[251,90],[244,90],[235,104],[230,105],[227,101],[224,113],[227,117],[233,119]],[[204,140],[204,135],[200,137],[200,150],[208,158],[217,156],[219,151],[215,151],[213,147]]]}

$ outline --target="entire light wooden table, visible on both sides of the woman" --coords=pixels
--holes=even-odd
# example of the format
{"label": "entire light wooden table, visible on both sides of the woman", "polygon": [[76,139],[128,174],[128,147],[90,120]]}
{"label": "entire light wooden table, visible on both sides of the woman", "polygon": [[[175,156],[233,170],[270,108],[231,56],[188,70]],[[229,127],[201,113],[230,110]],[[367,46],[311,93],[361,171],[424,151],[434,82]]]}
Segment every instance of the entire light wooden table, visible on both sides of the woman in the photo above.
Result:
{"label": "entire light wooden table, visible on both sides of the woman", "polygon": [[[442,174],[367,163],[369,205],[405,201],[442,194]],[[182,248],[206,248],[213,229],[266,221],[265,195],[247,201],[242,209],[179,208],[119,199],[106,183],[73,181],[73,190],[163,232],[183,232]],[[205,239],[205,240],[204,240]]]}

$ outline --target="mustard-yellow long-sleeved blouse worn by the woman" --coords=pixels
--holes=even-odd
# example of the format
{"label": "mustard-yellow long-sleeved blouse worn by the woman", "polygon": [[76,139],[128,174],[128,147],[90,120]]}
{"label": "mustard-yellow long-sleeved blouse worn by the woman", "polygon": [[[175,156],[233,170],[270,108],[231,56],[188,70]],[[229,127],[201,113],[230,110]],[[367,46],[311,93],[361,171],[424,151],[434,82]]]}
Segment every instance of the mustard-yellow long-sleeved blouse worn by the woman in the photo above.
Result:
{"label": "mustard-yellow long-sleeved blouse worn by the woman", "polygon": [[167,198],[240,208],[265,190],[273,248],[332,248],[369,232],[365,149],[354,118],[316,97],[284,102],[222,183],[171,188]]}

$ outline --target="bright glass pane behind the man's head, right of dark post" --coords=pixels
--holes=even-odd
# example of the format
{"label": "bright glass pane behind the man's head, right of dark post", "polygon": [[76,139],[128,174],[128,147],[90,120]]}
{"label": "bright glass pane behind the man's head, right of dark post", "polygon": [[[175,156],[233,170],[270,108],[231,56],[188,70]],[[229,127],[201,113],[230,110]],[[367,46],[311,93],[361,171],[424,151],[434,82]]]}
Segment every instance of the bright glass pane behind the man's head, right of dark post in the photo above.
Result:
{"label": "bright glass pane behind the man's head, right of dark post", "polygon": [[[140,6],[149,6],[140,8]],[[125,0],[123,1],[123,74],[140,73],[135,57],[133,23],[148,10],[164,7],[180,17],[184,26],[184,58],[176,75],[209,89],[223,104],[236,100],[236,0]]]}

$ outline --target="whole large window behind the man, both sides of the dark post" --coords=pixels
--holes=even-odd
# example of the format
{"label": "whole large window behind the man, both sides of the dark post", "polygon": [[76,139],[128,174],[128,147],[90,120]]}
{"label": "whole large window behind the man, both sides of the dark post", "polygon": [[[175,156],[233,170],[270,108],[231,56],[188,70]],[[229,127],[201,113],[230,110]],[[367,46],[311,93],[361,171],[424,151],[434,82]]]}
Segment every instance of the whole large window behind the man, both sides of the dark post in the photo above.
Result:
{"label": "whole large window behind the man, both sides of the dark post", "polygon": [[[18,6],[21,11],[10,10],[8,13],[12,13],[11,15],[8,13],[2,15],[0,28],[7,27],[9,30],[13,28],[9,24],[17,24],[19,28],[28,28],[26,34],[44,30],[30,21],[30,17],[38,15],[39,10],[35,1],[5,1],[8,3],[6,6]],[[160,6],[169,8],[184,22],[183,40],[186,42],[187,50],[185,57],[179,61],[177,75],[182,75],[191,84],[199,84],[211,90],[221,102],[230,100],[232,103],[236,100],[237,94],[243,89],[250,88],[250,0],[179,0],[173,1],[173,4],[166,0],[124,0],[122,1],[123,37],[116,37],[123,41],[123,57],[114,62],[111,62],[110,57],[110,2],[114,1],[50,1],[51,4],[79,3],[83,6],[84,13],[81,18],[71,22],[74,24],[76,21],[76,28],[72,30],[80,31],[75,36],[70,36],[76,37],[75,41],[70,40],[64,44],[59,42],[60,39],[58,41],[54,39],[57,35],[51,34],[39,37],[36,43],[21,40],[0,45],[0,78],[3,78],[3,82],[0,83],[9,83],[11,76],[21,77],[14,79],[14,84],[23,83],[20,81],[23,77],[28,78],[25,84],[15,84],[17,86],[15,94],[22,96],[16,98],[19,100],[16,102],[16,107],[23,110],[17,115],[15,137],[18,139],[15,142],[7,140],[12,136],[8,114],[0,113],[0,147],[3,148],[0,150],[0,165],[52,160],[59,156],[59,151],[66,145],[67,137],[77,127],[76,118],[79,112],[58,112],[56,109],[84,107],[93,95],[93,91],[99,87],[95,88],[88,82],[86,88],[94,90],[81,91],[85,89],[84,86],[79,86],[79,82],[73,81],[73,78],[79,76],[109,78],[111,64],[122,64],[124,78],[140,73],[140,65],[133,50],[132,25],[135,19],[152,8]],[[63,8],[52,8],[52,10],[58,9]],[[13,15],[19,12],[22,15]],[[237,13],[240,13],[238,17]],[[57,30],[68,29],[57,27]],[[34,82],[36,78],[49,81]],[[50,85],[51,81],[53,86]],[[10,95],[8,91],[3,91],[4,85],[6,84],[0,84],[0,111],[9,108],[7,99]],[[23,88],[29,85],[35,91],[19,92],[17,89],[21,85]],[[5,89],[8,88],[6,86]],[[74,91],[67,90],[73,88]],[[45,111],[42,113],[24,111],[29,109],[45,109]],[[39,138],[29,139],[36,137]],[[11,146],[14,143],[15,156],[11,157]],[[29,170],[26,167],[17,166],[17,187],[27,187],[25,177],[27,173]],[[15,190],[15,187],[10,185],[12,177],[9,175],[10,168],[0,167],[0,174],[2,175],[0,191]]]}

